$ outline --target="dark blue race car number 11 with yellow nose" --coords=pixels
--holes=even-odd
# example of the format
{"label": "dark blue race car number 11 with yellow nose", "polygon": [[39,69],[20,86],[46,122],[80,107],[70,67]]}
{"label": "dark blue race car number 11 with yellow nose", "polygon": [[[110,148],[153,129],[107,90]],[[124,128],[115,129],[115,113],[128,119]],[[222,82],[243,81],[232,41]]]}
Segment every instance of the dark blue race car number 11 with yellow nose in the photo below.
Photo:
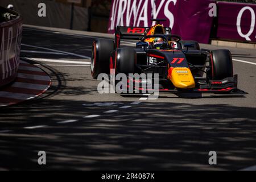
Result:
{"label": "dark blue race car number 11 with yellow nose", "polygon": [[[200,49],[196,41],[181,40],[152,19],[152,27],[115,28],[115,42],[97,39],[92,46],[91,73],[158,73],[159,92],[246,94],[237,89],[229,50]],[[120,47],[122,39],[139,40],[136,47]],[[129,80],[129,78],[128,78]],[[134,80],[133,80],[134,81]],[[135,88],[134,89],[140,89]]]}

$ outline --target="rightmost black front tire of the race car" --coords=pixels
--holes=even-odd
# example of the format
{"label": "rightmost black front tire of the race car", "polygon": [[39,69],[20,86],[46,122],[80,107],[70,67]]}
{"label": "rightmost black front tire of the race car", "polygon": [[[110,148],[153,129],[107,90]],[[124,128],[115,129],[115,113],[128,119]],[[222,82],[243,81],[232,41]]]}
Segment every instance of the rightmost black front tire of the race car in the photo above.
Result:
{"label": "rightmost black front tire of the race car", "polygon": [[210,65],[208,76],[212,80],[223,80],[233,77],[233,61],[229,50],[218,49],[210,53]]}

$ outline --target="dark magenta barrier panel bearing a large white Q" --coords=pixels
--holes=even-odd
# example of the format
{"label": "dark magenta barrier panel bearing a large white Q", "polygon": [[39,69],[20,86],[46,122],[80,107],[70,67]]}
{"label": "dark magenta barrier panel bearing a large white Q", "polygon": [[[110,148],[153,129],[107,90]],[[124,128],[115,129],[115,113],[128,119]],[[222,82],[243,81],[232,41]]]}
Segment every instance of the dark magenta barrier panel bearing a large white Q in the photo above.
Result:
{"label": "dark magenta barrier panel bearing a large white Q", "polygon": [[218,2],[217,39],[256,42],[256,5]]}

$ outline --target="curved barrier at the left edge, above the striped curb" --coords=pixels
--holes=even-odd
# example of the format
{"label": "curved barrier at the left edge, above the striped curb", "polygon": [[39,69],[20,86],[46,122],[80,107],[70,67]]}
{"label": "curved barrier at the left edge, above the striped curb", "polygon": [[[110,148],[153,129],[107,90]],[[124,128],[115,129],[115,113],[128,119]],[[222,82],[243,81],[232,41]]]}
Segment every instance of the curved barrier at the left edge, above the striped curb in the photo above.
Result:
{"label": "curved barrier at the left edge, above the striped curb", "polygon": [[15,11],[0,7],[0,86],[18,74],[22,18]]}

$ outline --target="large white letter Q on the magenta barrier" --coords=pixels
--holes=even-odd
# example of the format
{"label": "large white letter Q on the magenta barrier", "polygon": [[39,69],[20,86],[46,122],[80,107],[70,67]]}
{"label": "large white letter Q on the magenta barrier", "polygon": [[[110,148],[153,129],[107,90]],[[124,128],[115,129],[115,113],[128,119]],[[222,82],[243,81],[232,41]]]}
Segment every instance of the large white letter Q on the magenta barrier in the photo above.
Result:
{"label": "large white letter Q on the magenta barrier", "polygon": [[[251,13],[251,26],[250,26],[250,30],[249,32],[247,32],[247,34],[243,34],[242,30],[241,30],[241,18],[242,18],[242,15],[243,13],[246,11],[246,10],[249,10],[250,13]],[[255,27],[255,12],[254,10],[249,7],[249,6],[245,6],[243,7],[238,16],[237,16],[237,32],[238,34],[242,37],[242,38],[245,38],[247,41],[251,41],[250,39],[250,36],[251,34],[253,34],[253,31],[254,31],[254,27]],[[256,38],[256,36],[255,36]]]}

